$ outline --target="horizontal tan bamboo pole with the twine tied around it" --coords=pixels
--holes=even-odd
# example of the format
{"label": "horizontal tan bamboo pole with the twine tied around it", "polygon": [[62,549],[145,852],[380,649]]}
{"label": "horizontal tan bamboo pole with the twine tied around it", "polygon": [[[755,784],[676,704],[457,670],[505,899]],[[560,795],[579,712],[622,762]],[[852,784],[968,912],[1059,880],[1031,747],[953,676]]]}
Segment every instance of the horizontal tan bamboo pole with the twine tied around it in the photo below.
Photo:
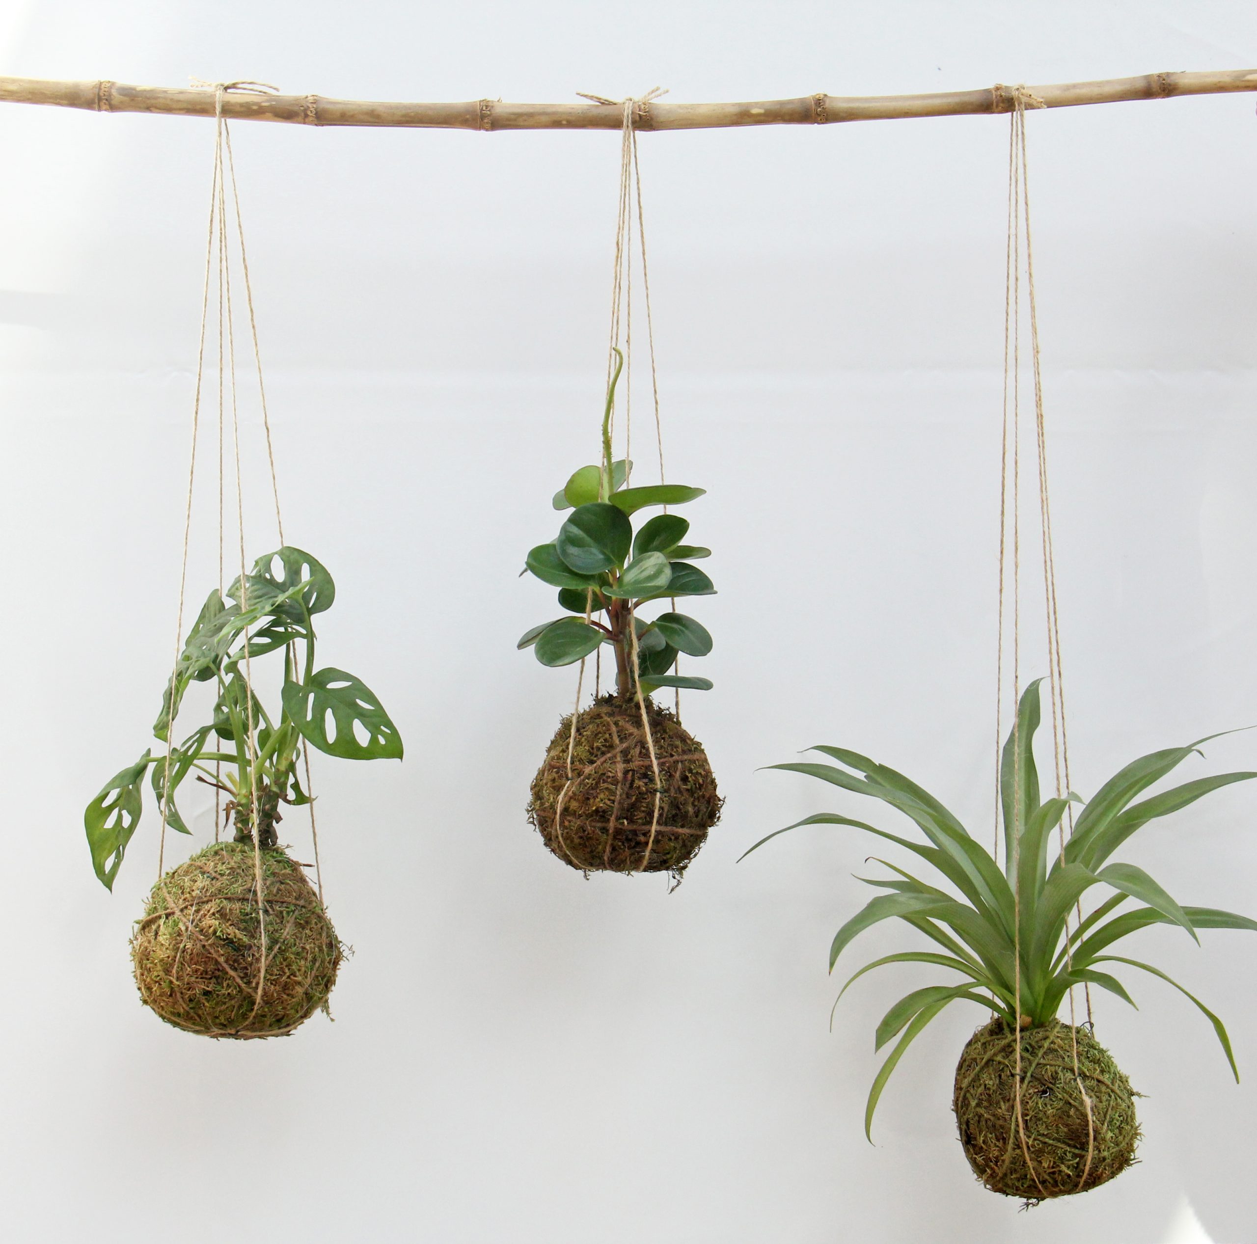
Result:
{"label": "horizontal tan bamboo pole with the twine tied around it", "polygon": [[[1154,73],[1105,82],[1029,87],[1048,108],[1212,95],[1257,90],[1257,69],[1213,73]],[[205,88],[129,87],[121,82],[45,82],[0,78],[0,102],[85,108],[91,112],[153,112],[212,117],[214,92]],[[732,126],[825,126],[840,121],[959,117],[1013,109],[1011,87],[948,90],[925,95],[803,95],[763,103],[637,103],[639,129],[720,129]],[[406,126],[434,129],[618,129],[618,104],[522,104],[500,99],[469,103],[371,103],[322,95],[279,95],[231,90],[222,97],[231,121],[284,121],[307,126]]]}

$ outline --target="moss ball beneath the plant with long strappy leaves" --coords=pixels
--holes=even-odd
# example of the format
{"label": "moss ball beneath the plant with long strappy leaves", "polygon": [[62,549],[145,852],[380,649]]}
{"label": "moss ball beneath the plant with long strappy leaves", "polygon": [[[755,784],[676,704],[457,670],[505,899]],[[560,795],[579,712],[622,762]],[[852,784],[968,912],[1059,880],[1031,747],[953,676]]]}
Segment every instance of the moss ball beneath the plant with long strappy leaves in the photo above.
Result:
{"label": "moss ball beneath the plant with long strappy leaves", "polygon": [[[1077,1076],[1071,1032],[1077,1034]],[[960,1143],[991,1191],[1037,1204],[1099,1187],[1134,1162],[1138,1094],[1086,1028],[1071,1030],[1053,1019],[1024,1029],[1021,1068],[1019,1122],[1016,1040],[1003,1019],[973,1034],[955,1069]]]}

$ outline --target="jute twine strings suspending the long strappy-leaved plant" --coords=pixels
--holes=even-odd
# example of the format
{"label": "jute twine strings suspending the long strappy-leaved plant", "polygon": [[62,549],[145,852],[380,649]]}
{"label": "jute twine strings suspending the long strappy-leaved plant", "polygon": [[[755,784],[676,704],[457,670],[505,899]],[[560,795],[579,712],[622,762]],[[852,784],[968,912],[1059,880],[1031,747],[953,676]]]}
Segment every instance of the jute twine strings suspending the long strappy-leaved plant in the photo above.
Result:
{"label": "jute twine strings suspending the long strappy-leaved plant", "polygon": [[[1070,792],[1070,754],[1065,721],[1065,685],[1061,663],[1061,627],[1056,593],[1056,559],[1052,545],[1052,509],[1048,498],[1047,477],[1047,436],[1043,418],[1043,382],[1040,359],[1038,313],[1035,302],[1035,256],[1031,243],[1029,181],[1026,158],[1026,109],[1042,108],[1043,101],[1036,98],[1024,87],[997,87],[998,92],[1012,97],[1013,109],[1009,114],[1008,134],[1008,236],[1006,251],[1004,279],[1004,390],[1003,390],[1003,435],[999,466],[999,638],[997,645],[997,687],[996,687],[996,833],[994,858],[999,858],[999,807],[1001,807],[1001,705],[1003,696],[1003,655],[1004,655],[1004,576],[1007,557],[1008,511],[1012,510],[1012,704],[1013,704],[1013,753],[1019,751],[1021,715],[1017,711],[1021,695],[1021,248],[1024,237],[1026,248],[1026,302],[1029,308],[1031,361],[1035,386],[1035,447],[1038,467],[1038,510],[1040,537],[1043,562],[1043,608],[1047,622],[1047,684],[1052,717],[1052,758],[1057,798]],[[1012,461],[1012,488],[1009,505],[1009,459]],[[1068,834],[1073,833],[1073,809],[1067,804]],[[1021,1009],[1021,868],[1019,851],[1021,826],[1017,822],[1021,809],[1021,769],[1013,765],[1013,822],[1011,861],[1013,876],[1013,946],[1014,946],[1014,1118],[1009,1126],[1016,1128],[1026,1167],[1042,1192],[1043,1186],[1035,1164],[1031,1160],[1029,1145],[1026,1140],[1026,1121],[1022,1106],[1022,1009]],[[1066,828],[1058,827],[1058,858],[1063,858]],[[1075,907],[1079,920],[1082,919],[1081,902]],[[1073,952],[1070,940],[1070,921],[1065,921],[1065,954],[1068,970],[1073,969]],[[1091,1014],[1091,990],[1085,986],[1087,1025],[1094,1028]],[[1073,986],[1070,986],[1070,1042],[1073,1056],[1073,1078],[1087,1115],[1087,1157],[1079,1179],[1079,1191],[1086,1186],[1091,1161],[1095,1155],[1095,1117],[1092,1102],[1082,1084],[1079,1069],[1077,1017],[1073,1005]],[[1012,1142],[1012,1136],[1009,1136]],[[1046,1195],[1046,1194],[1045,1194]]]}

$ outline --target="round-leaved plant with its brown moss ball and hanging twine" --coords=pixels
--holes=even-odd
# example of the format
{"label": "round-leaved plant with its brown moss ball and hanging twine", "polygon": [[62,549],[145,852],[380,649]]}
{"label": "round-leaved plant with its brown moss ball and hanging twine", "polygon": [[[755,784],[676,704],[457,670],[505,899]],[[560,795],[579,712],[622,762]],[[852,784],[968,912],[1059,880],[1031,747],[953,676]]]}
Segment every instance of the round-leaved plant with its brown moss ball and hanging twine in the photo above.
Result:
{"label": "round-leaved plant with its brown moss ball and hanging twine", "polygon": [[[710,690],[708,679],[679,672],[679,658],[703,657],[711,636],[701,622],[678,612],[681,597],[711,596],[711,579],[694,563],[710,549],[689,544],[689,520],[667,513],[704,490],[664,481],[659,383],[655,373],[646,237],[641,222],[641,175],[637,167],[634,106],[625,101],[621,132],[620,215],[612,285],[611,366],[602,412],[601,460],[582,466],[554,495],[557,510],[572,513],[556,539],[528,554],[525,567],[558,588],[566,616],[534,626],[519,641],[542,665],[579,662],[576,706],[554,733],[532,784],[528,819],[563,863],[590,872],[667,872],[680,881],[685,868],[720,817],[723,800],[703,745],[680,721],[680,691]],[[636,194],[632,194],[632,190]],[[623,402],[625,456],[612,452],[616,387],[632,374],[630,289],[634,204],[641,241],[641,284],[650,342],[651,391],[660,483],[635,486],[631,480],[631,405]],[[618,348],[621,323],[623,344]],[[635,527],[635,515],[662,509]],[[647,618],[640,611],[669,602]],[[602,694],[602,653],[615,668],[613,690]],[[595,700],[581,709],[586,661],[595,657]],[[652,692],[676,692],[675,711],[656,704]]]}

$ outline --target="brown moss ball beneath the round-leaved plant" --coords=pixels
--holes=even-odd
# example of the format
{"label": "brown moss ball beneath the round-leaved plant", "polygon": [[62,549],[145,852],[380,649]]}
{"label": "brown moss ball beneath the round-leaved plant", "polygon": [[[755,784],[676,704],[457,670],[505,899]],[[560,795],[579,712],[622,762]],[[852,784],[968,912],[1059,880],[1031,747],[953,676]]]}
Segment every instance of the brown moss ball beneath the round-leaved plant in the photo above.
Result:
{"label": "brown moss ball beneath the round-leaved plant", "polygon": [[655,773],[635,699],[605,695],[577,715],[571,782],[571,716],[551,739],[533,779],[528,819],[572,868],[670,872],[680,880],[720,819],[724,800],[701,744],[649,696],[646,712],[660,775],[654,841]]}

